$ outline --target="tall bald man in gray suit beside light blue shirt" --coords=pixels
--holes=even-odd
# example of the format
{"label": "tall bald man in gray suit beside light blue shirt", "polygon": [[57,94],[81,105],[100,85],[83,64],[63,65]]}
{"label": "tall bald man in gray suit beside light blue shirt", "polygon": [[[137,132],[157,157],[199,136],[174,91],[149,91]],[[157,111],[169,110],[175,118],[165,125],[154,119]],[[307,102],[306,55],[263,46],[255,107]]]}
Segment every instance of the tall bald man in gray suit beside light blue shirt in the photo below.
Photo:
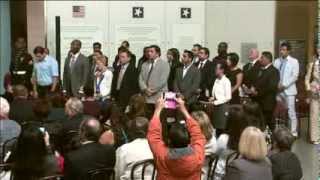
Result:
{"label": "tall bald man in gray suit beside light blue shirt", "polygon": [[68,96],[79,96],[83,93],[89,72],[89,61],[80,53],[81,41],[73,40],[71,50],[64,63],[63,91]]}

